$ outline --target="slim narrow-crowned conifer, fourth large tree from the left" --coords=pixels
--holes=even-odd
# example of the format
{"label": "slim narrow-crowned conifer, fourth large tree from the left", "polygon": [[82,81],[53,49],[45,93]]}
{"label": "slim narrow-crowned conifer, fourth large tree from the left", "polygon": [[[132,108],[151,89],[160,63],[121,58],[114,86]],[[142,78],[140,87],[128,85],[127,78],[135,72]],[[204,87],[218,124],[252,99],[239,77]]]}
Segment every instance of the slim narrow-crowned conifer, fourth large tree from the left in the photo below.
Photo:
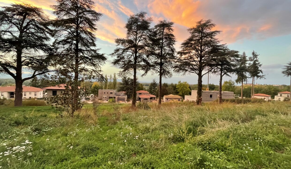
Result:
{"label": "slim narrow-crowned conifer, fourth large tree from the left", "polygon": [[171,78],[172,68],[175,63],[175,42],[176,38],[173,34],[174,22],[168,22],[166,20],[159,21],[153,28],[153,33],[150,38],[150,55],[152,56],[153,73],[159,74],[159,105],[162,104],[162,77]]}

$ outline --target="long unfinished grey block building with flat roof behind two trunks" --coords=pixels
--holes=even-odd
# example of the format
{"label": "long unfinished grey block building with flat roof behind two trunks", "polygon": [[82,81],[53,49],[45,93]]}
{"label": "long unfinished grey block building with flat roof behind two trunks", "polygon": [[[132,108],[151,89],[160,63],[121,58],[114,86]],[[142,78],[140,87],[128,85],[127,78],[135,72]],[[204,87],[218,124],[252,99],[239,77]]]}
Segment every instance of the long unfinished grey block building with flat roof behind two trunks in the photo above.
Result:
{"label": "long unfinished grey block building with flat roof behind two trunks", "polygon": [[[218,98],[219,91],[203,90],[202,102],[211,102]],[[191,90],[191,95],[185,95],[185,101],[196,101],[197,90]],[[222,91],[223,99],[234,99],[233,92]]]}

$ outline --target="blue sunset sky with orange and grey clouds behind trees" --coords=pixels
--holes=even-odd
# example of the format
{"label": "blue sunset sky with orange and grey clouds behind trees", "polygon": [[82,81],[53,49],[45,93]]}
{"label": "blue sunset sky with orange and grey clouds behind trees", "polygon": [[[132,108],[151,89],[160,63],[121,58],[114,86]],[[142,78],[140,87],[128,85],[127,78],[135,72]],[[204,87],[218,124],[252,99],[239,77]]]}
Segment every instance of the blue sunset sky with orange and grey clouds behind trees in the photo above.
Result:
{"label": "blue sunset sky with orange and grey clouds behind trees", "polygon": [[[177,38],[175,45],[179,51],[180,44],[189,33],[187,29],[196,25],[200,19],[212,19],[217,26],[216,30],[222,31],[218,38],[226,43],[232,50],[251,56],[255,50],[262,63],[265,79],[258,79],[258,84],[290,84],[290,77],[283,77],[282,68],[291,62],[291,0],[93,0],[95,10],[103,16],[98,22],[98,38],[96,44],[100,52],[107,54],[108,61],[103,66],[104,74],[118,73],[119,69],[111,62],[108,56],[115,49],[115,38],[125,37],[124,25],[129,15],[145,11],[148,17],[153,18],[152,25],[159,20],[175,22],[174,34]],[[29,3],[44,9],[51,18],[54,0],[0,0],[1,6],[11,3]],[[29,72],[24,72],[28,74]],[[142,72],[138,72],[140,76]],[[0,78],[9,78],[0,75]],[[224,77],[223,81],[235,76]],[[121,79],[119,77],[119,79]],[[148,74],[140,82],[150,82],[159,79],[157,74]],[[173,74],[171,79],[163,79],[163,83],[177,83],[187,81],[189,84],[197,83],[196,74]],[[203,77],[203,84],[207,83],[207,76]],[[219,77],[210,75],[210,83],[218,84]],[[249,79],[251,83],[251,79]]]}

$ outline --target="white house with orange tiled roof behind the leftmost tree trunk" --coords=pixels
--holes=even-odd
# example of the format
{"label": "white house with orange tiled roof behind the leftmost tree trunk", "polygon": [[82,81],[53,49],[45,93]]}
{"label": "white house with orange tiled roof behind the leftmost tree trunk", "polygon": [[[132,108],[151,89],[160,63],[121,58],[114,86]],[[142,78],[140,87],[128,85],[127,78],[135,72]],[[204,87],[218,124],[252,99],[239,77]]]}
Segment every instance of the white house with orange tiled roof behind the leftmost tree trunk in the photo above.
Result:
{"label": "white house with orange tiled roof behind the leftmost tree trunk", "polygon": [[[36,88],[32,86],[22,86],[22,98],[31,99],[31,98],[42,98],[43,89]],[[15,98],[15,86],[6,86],[0,88],[0,98]]]}

